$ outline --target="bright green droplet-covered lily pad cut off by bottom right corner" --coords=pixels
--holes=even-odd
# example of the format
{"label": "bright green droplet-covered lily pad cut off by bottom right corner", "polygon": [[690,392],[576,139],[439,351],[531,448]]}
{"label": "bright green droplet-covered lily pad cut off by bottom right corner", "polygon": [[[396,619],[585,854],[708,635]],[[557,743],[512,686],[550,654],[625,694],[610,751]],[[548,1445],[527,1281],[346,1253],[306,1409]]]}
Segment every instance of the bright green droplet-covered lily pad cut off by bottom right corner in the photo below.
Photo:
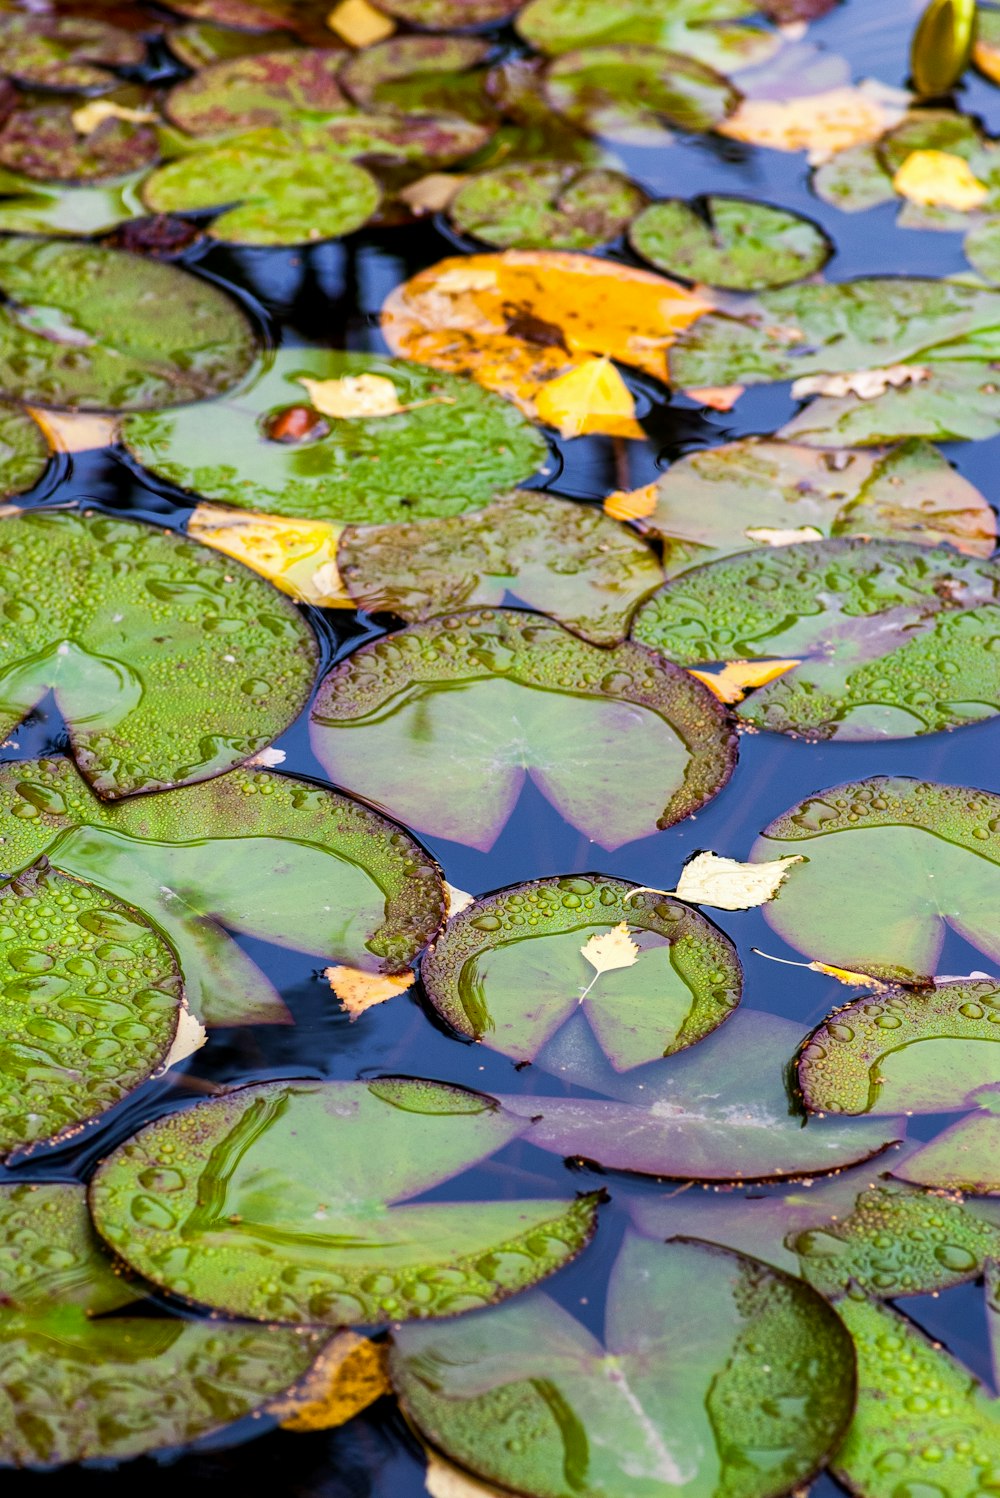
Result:
{"label": "bright green droplet-covered lily pad cut off by bottom right corner", "polygon": [[858,1354],[853,1423],[834,1476],[861,1498],[972,1498],[1000,1471],[997,1401],[891,1306],[837,1306]]}

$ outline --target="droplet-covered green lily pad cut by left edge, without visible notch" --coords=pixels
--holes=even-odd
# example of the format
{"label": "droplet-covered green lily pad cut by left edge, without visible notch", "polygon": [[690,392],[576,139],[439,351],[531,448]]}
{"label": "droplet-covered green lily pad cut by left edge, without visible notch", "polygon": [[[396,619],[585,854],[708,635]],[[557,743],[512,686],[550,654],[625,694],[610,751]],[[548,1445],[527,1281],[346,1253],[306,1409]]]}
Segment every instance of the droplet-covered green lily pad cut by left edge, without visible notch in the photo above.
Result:
{"label": "droplet-covered green lily pad cut by left edge, without visible notch", "polygon": [[58,1140],[166,1056],[181,1002],[145,917],[45,860],[0,885],[0,1155]]}

